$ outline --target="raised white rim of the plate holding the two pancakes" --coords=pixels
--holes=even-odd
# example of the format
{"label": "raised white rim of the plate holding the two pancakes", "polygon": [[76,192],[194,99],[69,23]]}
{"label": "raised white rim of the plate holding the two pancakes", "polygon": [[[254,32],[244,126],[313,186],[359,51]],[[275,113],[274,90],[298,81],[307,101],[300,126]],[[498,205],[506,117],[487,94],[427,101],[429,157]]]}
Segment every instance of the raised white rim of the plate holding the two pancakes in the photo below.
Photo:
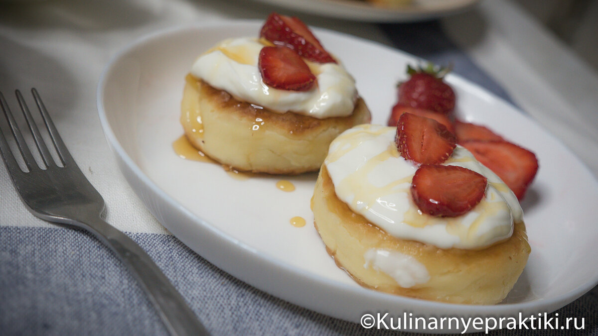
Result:
{"label": "raised white rim of the plate holding the two pancakes", "polygon": [[[193,213],[190,212],[190,210],[186,209],[184,206],[179,204],[178,201],[176,201],[172,196],[169,196],[169,194],[167,194],[160,187],[158,187],[158,185],[155,184],[155,182],[151,181],[151,179],[142,171],[141,167],[139,167],[138,164],[135,163],[135,161],[132,159],[132,157],[130,157],[130,155],[127,153],[127,151],[123,148],[120,141],[117,139],[117,137],[114,133],[114,130],[112,130],[112,127],[106,117],[105,109],[103,106],[103,100],[102,100],[102,97],[103,97],[104,91],[105,91],[106,80],[109,76],[109,72],[110,72],[112,66],[114,66],[115,63],[121,57],[123,57],[130,51],[135,50],[135,48],[139,47],[140,45],[143,45],[146,42],[152,41],[154,39],[164,38],[169,35],[187,32],[189,30],[203,30],[206,28],[222,28],[222,29],[224,29],[224,28],[230,28],[231,26],[258,25],[261,22],[262,22],[261,20],[234,20],[234,21],[222,20],[222,21],[218,21],[218,22],[196,23],[193,25],[176,26],[173,28],[171,27],[171,28],[155,30],[154,32],[151,32],[144,36],[141,36],[141,38],[138,38],[135,41],[127,44],[125,47],[121,48],[117,53],[114,54],[114,56],[111,57],[109,62],[106,64],[105,68],[103,68],[102,74],[100,75],[99,82],[97,85],[97,91],[96,91],[97,110],[98,110],[98,114],[99,114],[100,124],[102,125],[103,133],[105,135],[105,138],[108,142],[109,147],[111,148],[112,153],[115,155],[117,160],[120,161],[118,166],[119,166],[119,169],[121,170],[121,173],[123,173],[123,175],[125,176],[127,182],[129,183],[129,185],[133,189],[133,191],[135,191],[137,196],[139,198],[141,198],[141,200],[144,202],[145,206],[152,212],[152,215],[154,215],[156,218],[158,218],[158,220],[160,219],[160,214],[154,213],[154,211],[151,209],[151,207],[148,206],[148,204],[147,204],[147,200],[145,198],[148,195],[144,194],[142,191],[139,191],[138,188],[135,188],[133,186],[133,183],[135,183],[135,179],[138,179],[139,181],[141,181],[143,183],[143,185],[145,187],[145,191],[151,192],[154,199],[163,201],[167,206],[169,206],[172,209],[178,209],[179,211],[182,212],[182,215],[187,218],[195,219],[203,227],[203,230],[211,233],[212,236],[214,236],[214,237],[218,237],[218,239],[222,240],[222,242],[227,242],[228,244],[230,244],[230,246],[228,246],[228,247],[234,248],[234,250],[237,253],[243,253],[248,256],[251,256],[252,262],[254,262],[256,265],[267,262],[267,264],[270,265],[270,267],[272,265],[274,265],[277,268],[282,268],[288,274],[291,274],[295,277],[304,278],[304,281],[306,281],[306,283],[309,283],[309,282],[314,283],[315,282],[315,283],[325,285],[326,288],[333,288],[333,289],[337,289],[342,292],[348,292],[348,293],[353,293],[353,294],[356,293],[357,295],[359,295],[359,297],[366,297],[370,301],[373,300],[373,301],[377,301],[380,303],[385,303],[385,305],[392,304],[392,306],[410,307],[410,309],[412,309],[412,310],[416,310],[416,309],[417,310],[422,310],[422,309],[428,310],[425,307],[432,306],[432,308],[434,308],[432,310],[435,310],[435,311],[450,310],[451,316],[452,315],[454,315],[454,316],[468,315],[471,313],[471,311],[477,311],[477,314],[480,314],[480,315],[495,314],[497,316],[509,316],[508,314],[514,313],[514,311],[537,312],[538,311],[537,309],[539,309],[539,308],[548,308],[548,310],[550,310],[550,312],[551,312],[560,307],[565,306],[566,304],[568,304],[572,301],[575,301],[576,298],[581,297],[581,295],[585,294],[585,292],[590,291],[591,288],[593,288],[594,286],[596,286],[598,284],[598,278],[597,278],[597,279],[587,280],[587,282],[585,282],[581,286],[578,286],[576,289],[572,289],[569,292],[566,292],[564,294],[558,295],[553,298],[538,298],[536,300],[526,301],[523,303],[508,303],[508,304],[482,305],[482,306],[471,305],[471,304],[439,303],[439,302],[435,302],[435,301],[420,300],[420,299],[416,299],[416,298],[400,297],[398,295],[395,296],[392,294],[378,292],[373,289],[362,288],[361,286],[355,287],[355,286],[349,285],[347,283],[341,283],[341,282],[337,282],[336,280],[326,279],[324,277],[318,276],[317,274],[313,274],[313,273],[309,273],[309,272],[300,270],[299,268],[296,268],[290,264],[286,264],[285,262],[283,262],[280,259],[276,259],[273,256],[267,255],[264,252],[257,251],[255,249],[251,248],[250,246],[247,246],[244,243],[239,242],[237,239],[234,239],[233,237],[228,236],[227,234],[225,234],[218,228],[214,227],[209,222],[205,221],[204,219],[200,218],[197,215],[194,215]],[[327,32],[332,35],[340,35],[340,36],[343,36],[344,38],[354,39],[355,41],[358,41],[360,43],[377,45],[379,47],[391,50],[392,52],[402,53],[404,55],[407,55],[408,57],[411,57],[414,59],[419,59],[419,57],[405,53],[404,51],[398,50],[396,48],[389,47],[388,45],[380,44],[379,42],[376,42],[376,41],[370,41],[368,39],[359,38],[358,36],[353,36],[353,35],[349,35],[347,33],[342,33],[342,32],[336,32],[334,30],[329,30],[329,29],[315,28],[315,30]],[[594,178],[594,182],[596,182],[596,178],[594,177],[594,175],[591,173],[591,171],[588,169],[588,167],[583,163],[583,161],[579,160],[579,158],[576,156],[575,152],[570,151],[570,149],[564,143],[562,143],[562,141],[560,141],[558,138],[554,137],[554,135],[552,135],[550,132],[548,132],[548,130],[545,130],[544,128],[542,128],[538,123],[536,123],[535,120],[530,118],[529,115],[525,114],[519,108],[517,108],[516,106],[507,102],[506,100],[502,99],[501,97],[496,96],[492,92],[486,90],[486,88],[481,87],[480,85],[474,84],[469,80],[466,80],[466,78],[463,78],[463,77],[460,77],[459,75],[454,75],[454,74],[451,75],[451,77],[453,80],[456,80],[459,82],[458,85],[465,85],[466,87],[468,87],[470,89],[473,88],[475,90],[480,90],[481,92],[492,97],[492,99],[494,99],[498,102],[501,102],[502,104],[511,106],[511,108],[514,109],[515,111],[517,111],[519,114],[521,114],[522,117],[526,118],[531,123],[536,124],[536,126],[538,126],[545,133],[545,135],[551,136],[554,140],[559,142],[563,146],[563,148],[565,148],[566,151],[569,152],[570,155],[575,157],[575,159],[577,161],[576,163],[579,164],[582,167],[582,169],[584,169],[588,173],[588,175],[592,176]],[[125,170],[125,169],[127,169],[127,170]],[[596,183],[598,184],[598,182],[596,182]],[[246,279],[248,277],[243,276],[243,274],[237,274],[238,272],[235,272],[234,270],[233,271],[228,270],[228,268],[230,268],[230,267],[222,267],[222,265],[218,264],[218,262],[213,262],[207,256],[204,256],[203,253],[199,253],[198,251],[196,251],[196,249],[192,248],[189,244],[187,244],[184,239],[182,239],[177,234],[175,234],[175,232],[178,231],[178,230],[176,230],[176,228],[174,228],[174,230],[172,230],[168,224],[165,225],[163,221],[160,221],[160,222],[162,225],[164,225],[164,227],[166,227],[170,232],[172,232],[175,237],[177,237],[182,242],[184,242],[185,245],[187,245],[189,248],[191,248],[194,252],[198,253],[200,256],[208,259],[209,262],[216,265],[216,267],[220,268],[221,270],[226,271],[228,274],[231,274],[232,276],[236,277],[237,279],[240,279],[243,282],[246,282],[249,285],[254,286],[255,288],[258,288],[264,292],[267,292],[276,297],[282,298],[283,300],[297,303],[296,300],[292,300],[291,298],[289,298],[288,297],[289,295],[283,295],[280,293],[272,292],[269,290],[270,287],[266,288],[266,286],[261,285],[259,282],[256,282],[253,279]],[[340,316],[339,314],[330,313],[329,311],[323,311],[320,309],[320,307],[314,307],[313,305],[310,305],[310,304],[298,303],[298,305],[308,308],[310,310],[318,311],[319,313],[327,314],[328,316],[333,316],[333,317],[337,317],[340,319],[349,320],[351,322],[356,322],[356,319],[358,319],[358,317],[359,317],[359,316],[352,316],[352,317]],[[382,306],[382,305],[380,305],[380,306]],[[542,311],[544,311],[544,310],[542,310]],[[364,313],[365,313],[365,310],[364,310]]]}

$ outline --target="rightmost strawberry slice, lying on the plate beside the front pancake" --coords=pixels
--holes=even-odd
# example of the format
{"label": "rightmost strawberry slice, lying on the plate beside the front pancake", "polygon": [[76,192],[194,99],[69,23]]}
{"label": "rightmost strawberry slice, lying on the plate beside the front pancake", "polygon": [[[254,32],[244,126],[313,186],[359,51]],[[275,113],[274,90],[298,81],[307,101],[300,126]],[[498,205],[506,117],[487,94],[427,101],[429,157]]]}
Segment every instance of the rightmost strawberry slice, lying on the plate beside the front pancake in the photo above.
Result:
{"label": "rightmost strawberry slice, lying on the plate beside the front pancake", "polygon": [[520,200],[538,172],[536,155],[514,143],[470,140],[461,145],[498,175]]}

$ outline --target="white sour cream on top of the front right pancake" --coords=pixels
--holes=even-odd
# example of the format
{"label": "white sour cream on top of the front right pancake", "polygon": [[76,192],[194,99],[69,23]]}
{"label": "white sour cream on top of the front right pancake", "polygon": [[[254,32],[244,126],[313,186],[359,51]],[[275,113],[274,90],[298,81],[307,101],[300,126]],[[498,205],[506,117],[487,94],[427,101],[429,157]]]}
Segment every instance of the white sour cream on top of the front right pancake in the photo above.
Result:
{"label": "white sour cream on top of the front right pancake", "polygon": [[434,217],[413,203],[416,164],[401,157],[395,127],[360,125],[332,141],[324,161],[337,197],[386,233],[438,248],[481,249],[507,239],[523,211],[501,179],[457,145],[443,164],[474,170],[488,179],[486,196],[468,213]]}

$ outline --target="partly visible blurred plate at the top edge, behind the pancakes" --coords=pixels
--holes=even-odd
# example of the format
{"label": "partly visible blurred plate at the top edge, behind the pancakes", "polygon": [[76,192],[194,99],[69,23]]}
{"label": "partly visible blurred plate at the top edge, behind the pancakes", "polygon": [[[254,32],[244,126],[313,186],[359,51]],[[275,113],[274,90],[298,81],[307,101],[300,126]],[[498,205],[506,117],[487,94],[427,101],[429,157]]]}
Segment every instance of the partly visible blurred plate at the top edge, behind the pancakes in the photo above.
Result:
{"label": "partly visible blurred plate at the top edge, behind the pancakes", "polygon": [[416,22],[468,10],[479,0],[413,0],[395,8],[365,0],[257,0],[304,13],[365,22]]}

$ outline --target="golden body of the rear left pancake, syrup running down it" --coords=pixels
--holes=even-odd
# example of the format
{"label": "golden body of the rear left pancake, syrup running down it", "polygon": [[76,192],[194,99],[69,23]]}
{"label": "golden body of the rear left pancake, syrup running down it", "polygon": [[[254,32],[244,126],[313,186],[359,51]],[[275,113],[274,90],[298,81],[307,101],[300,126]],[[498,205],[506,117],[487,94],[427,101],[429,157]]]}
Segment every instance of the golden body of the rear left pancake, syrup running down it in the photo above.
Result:
{"label": "golden body of the rear left pancake, syrup running down it", "polygon": [[370,118],[361,98],[347,117],[317,119],[242,102],[192,75],[181,103],[181,124],[197,149],[224,166],[271,174],[318,170],[330,142]]}

